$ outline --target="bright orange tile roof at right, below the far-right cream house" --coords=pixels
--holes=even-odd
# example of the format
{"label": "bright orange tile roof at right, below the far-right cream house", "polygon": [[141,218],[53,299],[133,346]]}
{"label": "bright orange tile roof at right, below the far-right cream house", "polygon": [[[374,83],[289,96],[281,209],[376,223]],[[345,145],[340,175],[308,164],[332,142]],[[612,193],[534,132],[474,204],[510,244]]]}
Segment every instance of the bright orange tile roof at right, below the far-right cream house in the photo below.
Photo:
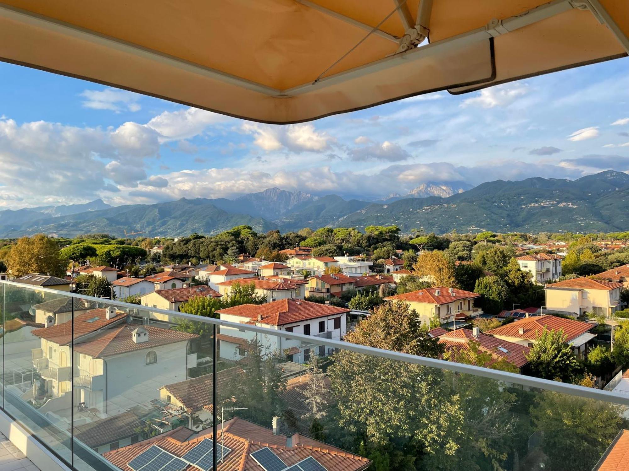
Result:
{"label": "bright orange tile roof at right, below the far-right cream house", "polygon": [[[582,333],[592,330],[596,325],[581,322],[580,320],[566,319],[550,315],[527,317],[516,320],[510,324],[487,330],[487,335],[501,335],[503,337],[526,338],[527,340],[537,340],[542,335],[544,328],[548,330],[563,330],[566,335],[566,342],[579,337]],[[520,328],[524,333],[520,333]]]}

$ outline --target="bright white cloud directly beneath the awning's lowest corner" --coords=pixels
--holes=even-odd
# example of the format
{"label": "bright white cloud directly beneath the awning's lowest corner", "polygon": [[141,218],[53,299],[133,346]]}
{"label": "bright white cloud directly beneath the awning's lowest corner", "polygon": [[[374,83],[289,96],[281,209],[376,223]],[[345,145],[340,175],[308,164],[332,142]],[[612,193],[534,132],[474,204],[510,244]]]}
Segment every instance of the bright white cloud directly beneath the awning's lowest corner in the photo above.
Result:
{"label": "bright white cloud directly beneath the awning's lowest corner", "polygon": [[256,122],[243,122],[241,129],[255,136],[253,144],[265,151],[287,149],[293,152],[323,152],[330,149],[331,136],[317,131],[312,124],[272,126]]}

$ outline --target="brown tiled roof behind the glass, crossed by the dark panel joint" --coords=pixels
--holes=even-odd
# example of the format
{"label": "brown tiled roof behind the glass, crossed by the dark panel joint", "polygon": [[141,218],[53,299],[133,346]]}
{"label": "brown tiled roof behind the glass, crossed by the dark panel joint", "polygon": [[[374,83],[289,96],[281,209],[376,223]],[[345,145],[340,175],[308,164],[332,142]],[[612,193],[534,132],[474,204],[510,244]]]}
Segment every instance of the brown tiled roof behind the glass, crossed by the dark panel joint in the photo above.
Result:
{"label": "brown tiled roof behind the glass, crossed by the dark panel joint", "polygon": [[[234,366],[216,373],[217,391],[225,391],[228,383],[244,373],[240,366]],[[204,374],[186,381],[167,384],[160,389],[165,389],[177,399],[189,412],[195,412],[206,406],[212,405],[214,386],[211,374]],[[210,407],[211,409],[211,407]]]}

